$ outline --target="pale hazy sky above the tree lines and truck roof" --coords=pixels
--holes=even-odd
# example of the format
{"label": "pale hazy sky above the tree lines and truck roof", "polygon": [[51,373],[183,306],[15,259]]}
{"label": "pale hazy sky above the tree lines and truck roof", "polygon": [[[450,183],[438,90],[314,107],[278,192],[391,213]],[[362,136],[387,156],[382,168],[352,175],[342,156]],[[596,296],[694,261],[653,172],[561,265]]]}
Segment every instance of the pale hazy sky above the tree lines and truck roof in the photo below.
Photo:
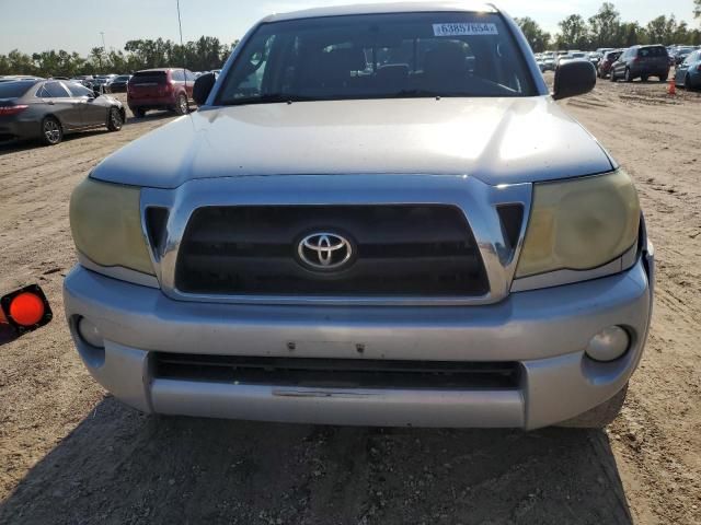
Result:
{"label": "pale hazy sky above the tree lines and truck roof", "polygon": [[[363,0],[360,0],[363,1]],[[382,2],[383,0],[375,0]],[[392,0],[384,0],[392,1]],[[568,14],[595,14],[604,0],[492,0],[512,16],[530,16],[555,33]],[[660,14],[675,14],[690,26],[693,0],[612,0],[624,21],[646,24]],[[223,43],[241,38],[263,16],[312,7],[358,3],[357,0],[180,0],[183,38],[216,36]],[[367,2],[364,2],[367,3]],[[0,54],[12,49],[35,52],[65,49],[88,55],[102,46],[122,49],[137,38],[180,39],[176,0],[0,0]]]}

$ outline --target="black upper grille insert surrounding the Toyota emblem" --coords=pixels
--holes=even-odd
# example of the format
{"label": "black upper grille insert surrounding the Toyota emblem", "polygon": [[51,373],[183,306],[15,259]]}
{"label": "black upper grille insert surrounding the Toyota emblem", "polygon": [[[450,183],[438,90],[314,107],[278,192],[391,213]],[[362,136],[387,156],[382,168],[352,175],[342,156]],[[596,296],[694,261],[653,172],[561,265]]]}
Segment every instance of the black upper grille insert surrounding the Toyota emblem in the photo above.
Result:
{"label": "black upper grille insert surrounding the Toyota emblem", "polygon": [[[338,271],[299,257],[307,235],[349,240]],[[197,209],[175,273],[183,293],[313,296],[474,296],[489,291],[464,214],[450,206],[281,206]]]}

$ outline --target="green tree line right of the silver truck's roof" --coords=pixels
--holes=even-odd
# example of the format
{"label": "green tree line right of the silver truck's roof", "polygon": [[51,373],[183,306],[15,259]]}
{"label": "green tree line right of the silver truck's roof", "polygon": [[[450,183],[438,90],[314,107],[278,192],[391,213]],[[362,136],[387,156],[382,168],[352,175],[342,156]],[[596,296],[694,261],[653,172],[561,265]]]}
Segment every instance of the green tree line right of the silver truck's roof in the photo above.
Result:
{"label": "green tree line right of the silver truck's roof", "polygon": [[[701,18],[701,0],[694,0],[694,16]],[[535,52],[548,49],[597,49],[599,47],[630,47],[637,44],[663,44],[669,46],[701,45],[701,30],[691,28],[675,15],[660,15],[646,25],[625,22],[611,2],[604,2],[599,11],[585,19],[571,14],[558,25],[560,32],[551,35],[535,20],[526,16],[516,19],[526,39]]]}

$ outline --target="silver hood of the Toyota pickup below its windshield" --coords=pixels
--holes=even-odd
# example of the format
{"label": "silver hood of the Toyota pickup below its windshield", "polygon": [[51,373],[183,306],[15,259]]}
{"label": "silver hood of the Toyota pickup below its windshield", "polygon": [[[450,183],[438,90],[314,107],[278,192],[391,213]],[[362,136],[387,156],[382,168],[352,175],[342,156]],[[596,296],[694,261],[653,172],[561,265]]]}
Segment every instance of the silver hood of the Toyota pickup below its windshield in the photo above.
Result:
{"label": "silver hood of the Toyota pickup below its windshield", "polygon": [[175,188],[256,175],[469,175],[515,184],[612,161],[551,97],[306,102],[208,108],[105,159],[94,178]]}

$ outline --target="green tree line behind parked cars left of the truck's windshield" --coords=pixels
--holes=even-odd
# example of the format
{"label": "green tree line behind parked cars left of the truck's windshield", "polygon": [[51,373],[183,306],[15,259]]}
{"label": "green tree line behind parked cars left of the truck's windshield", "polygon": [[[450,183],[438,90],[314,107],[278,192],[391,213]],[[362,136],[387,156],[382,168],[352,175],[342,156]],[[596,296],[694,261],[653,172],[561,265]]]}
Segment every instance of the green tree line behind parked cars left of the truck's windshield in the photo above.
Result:
{"label": "green tree line behind parked cars left of the truck's windshield", "polygon": [[16,49],[0,55],[0,74],[35,74],[37,77],[76,77],[79,74],[130,73],[141,69],[169,66],[186,67],[192,71],[220,69],[237,42],[222,44],[219,38],[202,36],[184,45],[172,40],[138,39],[125,44],[124,50],[94,47],[83,57],[78,52],[34,52]]}

